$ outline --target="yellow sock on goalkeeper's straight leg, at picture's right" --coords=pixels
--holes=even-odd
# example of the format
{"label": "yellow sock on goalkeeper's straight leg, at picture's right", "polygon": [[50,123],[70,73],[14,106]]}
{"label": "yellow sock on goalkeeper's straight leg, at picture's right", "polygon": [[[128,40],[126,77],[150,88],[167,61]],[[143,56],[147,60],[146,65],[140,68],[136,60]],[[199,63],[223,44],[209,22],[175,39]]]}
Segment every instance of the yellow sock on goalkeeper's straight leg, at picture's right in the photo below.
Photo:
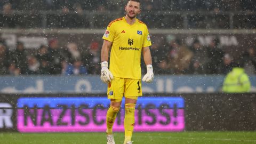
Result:
{"label": "yellow sock on goalkeeper's straight leg, at picture's right", "polygon": [[127,141],[131,141],[132,132],[134,127],[134,111],[135,111],[134,103],[126,103],[125,104],[125,117],[124,117],[124,143]]}

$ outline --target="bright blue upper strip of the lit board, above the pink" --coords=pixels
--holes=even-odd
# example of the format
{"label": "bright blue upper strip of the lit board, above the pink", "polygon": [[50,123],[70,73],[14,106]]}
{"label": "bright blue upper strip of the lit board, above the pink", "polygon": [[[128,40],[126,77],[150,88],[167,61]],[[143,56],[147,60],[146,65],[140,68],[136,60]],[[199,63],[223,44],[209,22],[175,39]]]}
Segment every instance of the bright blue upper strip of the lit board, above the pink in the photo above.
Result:
{"label": "bright blue upper strip of the lit board, above the pink", "polygon": [[[142,108],[145,108],[148,103],[154,104],[157,108],[163,104],[168,105],[170,108],[174,108],[176,105],[177,108],[184,108],[185,101],[182,97],[141,97],[137,101],[137,106],[140,105]],[[80,105],[86,104],[88,108],[93,108],[96,105],[101,105],[103,107],[109,107],[110,100],[106,97],[69,97],[69,98],[58,98],[58,97],[43,97],[43,98],[19,98],[17,102],[18,108],[23,108],[25,105],[29,108],[36,106],[37,108],[43,108],[45,105],[50,108],[59,108],[59,105],[71,105],[78,108]],[[124,108],[124,102],[122,103]]]}

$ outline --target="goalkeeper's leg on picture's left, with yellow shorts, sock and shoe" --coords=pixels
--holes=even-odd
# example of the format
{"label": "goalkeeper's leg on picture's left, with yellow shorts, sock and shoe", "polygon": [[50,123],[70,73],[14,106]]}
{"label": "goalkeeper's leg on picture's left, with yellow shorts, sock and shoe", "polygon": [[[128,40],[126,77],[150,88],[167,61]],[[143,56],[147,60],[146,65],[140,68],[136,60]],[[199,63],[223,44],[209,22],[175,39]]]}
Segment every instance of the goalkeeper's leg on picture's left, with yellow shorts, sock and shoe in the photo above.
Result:
{"label": "goalkeeper's leg on picture's left, with yellow shorts, sock and shoe", "polygon": [[114,77],[113,81],[108,84],[108,99],[110,99],[110,107],[106,115],[107,144],[115,144],[113,137],[113,125],[124,95],[124,86],[122,85],[124,85],[124,79],[118,77]]}

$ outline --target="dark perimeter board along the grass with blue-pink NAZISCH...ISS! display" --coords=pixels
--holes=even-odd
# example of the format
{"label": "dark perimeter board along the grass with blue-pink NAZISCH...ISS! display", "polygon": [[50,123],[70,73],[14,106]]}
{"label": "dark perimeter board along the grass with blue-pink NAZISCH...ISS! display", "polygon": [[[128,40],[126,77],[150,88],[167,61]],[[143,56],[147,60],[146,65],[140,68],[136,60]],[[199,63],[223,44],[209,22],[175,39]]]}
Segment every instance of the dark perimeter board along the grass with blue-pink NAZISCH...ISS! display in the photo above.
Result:
{"label": "dark perimeter board along the grass with blue-pink NAZISCH...ISS! display", "polygon": [[[124,102],[123,102],[124,103]],[[106,94],[0,94],[0,132],[105,132]],[[135,131],[255,131],[255,93],[145,94]],[[123,131],[124,105],[114,131]]]}

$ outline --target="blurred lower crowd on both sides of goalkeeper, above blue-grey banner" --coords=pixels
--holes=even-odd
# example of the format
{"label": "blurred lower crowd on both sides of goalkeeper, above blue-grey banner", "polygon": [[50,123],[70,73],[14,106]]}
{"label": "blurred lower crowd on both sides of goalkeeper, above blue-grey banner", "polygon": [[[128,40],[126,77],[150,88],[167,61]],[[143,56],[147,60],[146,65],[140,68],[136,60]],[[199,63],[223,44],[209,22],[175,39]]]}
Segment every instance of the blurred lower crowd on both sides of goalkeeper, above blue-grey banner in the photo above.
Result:
{"label": "blurred lower crowd on both sides of goalkeeper, above blue-grey banner", "polygon": [[[58,39],[50,39],[48,45],[41,45],[35,50],[26,49],[18,42],[14,50],[0,43],[1,75],[85,75],[100,73],[101,41],[91,41],[86,47],[78,47],[68,42],[59,46]],[[191,46],[186,45],[174,35],[164,39],[155,39],[151,46],[153,67],[158,74],[223,74],[233,67],[243,67],[247,74],[256,71],[256,51],[249,47],[241,53],[239,59],[222,51],[218,39],[209,45],[199,43],[197,39]],[[146,73],[142,60],[142,73]]]}

